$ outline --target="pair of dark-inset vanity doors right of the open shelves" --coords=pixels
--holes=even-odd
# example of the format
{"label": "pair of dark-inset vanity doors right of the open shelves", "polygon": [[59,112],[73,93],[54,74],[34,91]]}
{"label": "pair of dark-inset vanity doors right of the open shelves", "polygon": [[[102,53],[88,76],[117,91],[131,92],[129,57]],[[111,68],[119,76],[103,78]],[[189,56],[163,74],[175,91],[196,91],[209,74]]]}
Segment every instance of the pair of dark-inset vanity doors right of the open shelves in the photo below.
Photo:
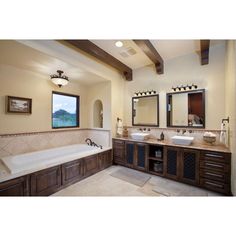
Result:
{"label": "pair of dark-inset vanity doors right of the open shelves", "polygon": [[200,152],[176,147],[164,148],[164,176],[198,185]]}

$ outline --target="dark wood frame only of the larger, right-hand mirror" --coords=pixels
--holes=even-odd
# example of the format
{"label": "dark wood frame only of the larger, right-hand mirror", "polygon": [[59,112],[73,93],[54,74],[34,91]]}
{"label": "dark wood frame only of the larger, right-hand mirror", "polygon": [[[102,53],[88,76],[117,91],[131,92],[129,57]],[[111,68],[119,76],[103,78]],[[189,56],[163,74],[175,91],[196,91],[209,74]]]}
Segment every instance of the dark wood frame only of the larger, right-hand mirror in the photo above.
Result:
{"label": "dark wood frame only of the larger, right-hand mirror", "polygon": [[[170,124],[170,115],[171,111],[169,111],[168,106],[171,102],[172,95],[174,94],[181,94],[181,93],[202,93],[202,112],[203,112],[203,125],[202,126],[178,126],[178,125],[171,125]],[[205,114],[205,89],[197,89],[197,90],[189,90],[189,91],[181,91],[181,92],[173,92],[166,94],[166,118],[167,118],[167,127],[176,127],[176,128],[194,128],[194,129],[204,129],[205,128],[205,121],[206,121],[206,114]]]}

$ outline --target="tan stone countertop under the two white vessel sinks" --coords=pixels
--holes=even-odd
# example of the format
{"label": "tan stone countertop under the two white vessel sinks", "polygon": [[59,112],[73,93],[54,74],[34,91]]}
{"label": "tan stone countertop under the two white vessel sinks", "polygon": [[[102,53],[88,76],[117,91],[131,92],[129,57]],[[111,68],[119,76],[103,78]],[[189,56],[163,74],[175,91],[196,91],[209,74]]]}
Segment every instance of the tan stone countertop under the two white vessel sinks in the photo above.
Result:
{"label": "tan stone countertop under the two white vessel sinks", "polygon": [[139,140],[134,140],[131,137],[128,137],[128,138],[114,137],[114,139],[119,139],[119,140],[124,140],[124,141],[133,141],[133,142],[139,142],[139,143],[147,143],[147,144],[157,144],[157,145],[163,145],[163,146],[172,146],[172,147],[181,147],[181,148],[189,148],[189,149],[198,149],[198,150],[230,153],[230,149],[224,145],[214,145],[214,144],[208,145],[205,143],[193,143],[190,146],[184,146],[184,145],[174,144],[170,140],[158,141],[157,139],[147,139],[144,141],[139,141]]}

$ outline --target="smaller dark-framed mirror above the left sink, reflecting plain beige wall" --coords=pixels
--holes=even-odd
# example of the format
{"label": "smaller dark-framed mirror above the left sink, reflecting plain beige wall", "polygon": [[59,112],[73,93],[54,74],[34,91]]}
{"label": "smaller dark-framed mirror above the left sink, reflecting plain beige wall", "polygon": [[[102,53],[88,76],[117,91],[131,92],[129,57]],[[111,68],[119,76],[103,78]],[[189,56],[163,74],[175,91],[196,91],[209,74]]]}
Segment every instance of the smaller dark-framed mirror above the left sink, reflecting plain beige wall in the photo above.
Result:
{"label": "smaller dark-framed mirror above the left sink, reflecting plain beige wall", "polygon": [[132,98],[132,125],[159,126],[159,96]]}

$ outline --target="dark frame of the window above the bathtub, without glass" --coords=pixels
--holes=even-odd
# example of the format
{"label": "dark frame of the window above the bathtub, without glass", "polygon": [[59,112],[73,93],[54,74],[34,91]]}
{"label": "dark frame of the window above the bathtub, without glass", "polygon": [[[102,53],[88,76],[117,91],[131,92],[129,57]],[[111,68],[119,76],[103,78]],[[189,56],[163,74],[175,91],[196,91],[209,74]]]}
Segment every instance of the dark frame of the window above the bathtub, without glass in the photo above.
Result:
{"label": "dark frame of the window above the bathtub, without glass", "polygon": [[[53,94],[76,98],[76,126],[53,127]],[[52,91],[52,99],[51,99],[51,126],[52,126],[52,129],[66,129],[66,128],[79,128],[80,127],[80,96],[79,95]]]}

